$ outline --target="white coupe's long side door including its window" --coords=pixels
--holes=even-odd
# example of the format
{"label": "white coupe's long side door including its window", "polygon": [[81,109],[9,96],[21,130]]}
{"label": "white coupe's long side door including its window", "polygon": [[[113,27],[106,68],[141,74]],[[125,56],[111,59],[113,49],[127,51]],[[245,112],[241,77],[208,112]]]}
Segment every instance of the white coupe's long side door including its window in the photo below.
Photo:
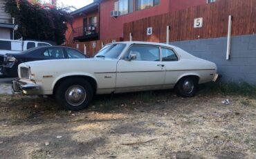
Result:
{"label": "white coupe's long side door including its window", "polygon": [[[136,55],[136,59],[127,60],[130,55]],[[165,66],[160,60],[158,46],[133,45],[118,61],[116,92],[159,88],[164,80]]]}

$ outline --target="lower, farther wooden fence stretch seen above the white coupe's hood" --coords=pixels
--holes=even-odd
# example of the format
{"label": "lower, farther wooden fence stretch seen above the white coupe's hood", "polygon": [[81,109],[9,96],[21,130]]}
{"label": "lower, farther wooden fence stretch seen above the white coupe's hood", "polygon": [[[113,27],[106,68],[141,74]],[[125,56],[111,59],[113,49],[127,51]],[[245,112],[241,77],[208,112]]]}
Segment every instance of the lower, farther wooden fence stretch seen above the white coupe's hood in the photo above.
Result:
{"label": "lower, farther wooden fence stretch seen above the white coupe's hood", "polygon": [[86,42],[74,42],[73,44],[65,44],[65,46],[69,46],[72,48],[77,48],[78,50],[84,53],[84,46],[86,46],[86,55],[89,57],[95,55],[95,53],[102,48],[102,44],[109,44],[113,41],[123,41],[121,37],[116,39],[106,39],[106,40],[97,40],[97,41],[86,41]]}

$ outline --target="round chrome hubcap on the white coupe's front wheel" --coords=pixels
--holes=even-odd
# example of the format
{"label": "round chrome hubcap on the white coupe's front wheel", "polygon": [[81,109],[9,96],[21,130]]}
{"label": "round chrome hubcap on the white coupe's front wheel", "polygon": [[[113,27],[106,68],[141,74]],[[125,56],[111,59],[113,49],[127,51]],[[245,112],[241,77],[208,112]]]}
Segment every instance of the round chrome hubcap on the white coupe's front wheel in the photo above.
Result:
{"label": "round chrome hubcap on the white coupe's front wheel", "polygon": [[78,106],[86,100],[86,91],[83,86],[70,86],[65,93],[66,102],[72,106]]}

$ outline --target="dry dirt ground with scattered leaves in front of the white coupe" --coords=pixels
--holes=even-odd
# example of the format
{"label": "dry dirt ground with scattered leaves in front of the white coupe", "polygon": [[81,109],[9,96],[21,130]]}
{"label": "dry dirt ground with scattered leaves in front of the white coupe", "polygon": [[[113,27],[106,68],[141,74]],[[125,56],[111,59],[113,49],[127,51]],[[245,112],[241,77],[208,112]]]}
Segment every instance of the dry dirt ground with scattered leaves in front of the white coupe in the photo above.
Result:
{"label": "dry dirt ground with scattered leaves in front of the white coupe", "polygon": [[[223,104],[228,99],[229,104]],[[84,111],[0,96],[0,158],[256,158],[256,99],[103,95]]]}

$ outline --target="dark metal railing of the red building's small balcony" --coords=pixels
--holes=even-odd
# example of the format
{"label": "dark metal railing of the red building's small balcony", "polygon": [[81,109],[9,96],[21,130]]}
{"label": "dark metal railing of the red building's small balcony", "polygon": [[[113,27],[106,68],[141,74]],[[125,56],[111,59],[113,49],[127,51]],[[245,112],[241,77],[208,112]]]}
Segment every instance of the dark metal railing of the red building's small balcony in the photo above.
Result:
{"label": "dark metal railing of the red building's small balcony", "polygon": [[91,24],[87,27],[74,28],[73,37],[94,35],[95,33],[98,33],[98,25],[97,24]]}

